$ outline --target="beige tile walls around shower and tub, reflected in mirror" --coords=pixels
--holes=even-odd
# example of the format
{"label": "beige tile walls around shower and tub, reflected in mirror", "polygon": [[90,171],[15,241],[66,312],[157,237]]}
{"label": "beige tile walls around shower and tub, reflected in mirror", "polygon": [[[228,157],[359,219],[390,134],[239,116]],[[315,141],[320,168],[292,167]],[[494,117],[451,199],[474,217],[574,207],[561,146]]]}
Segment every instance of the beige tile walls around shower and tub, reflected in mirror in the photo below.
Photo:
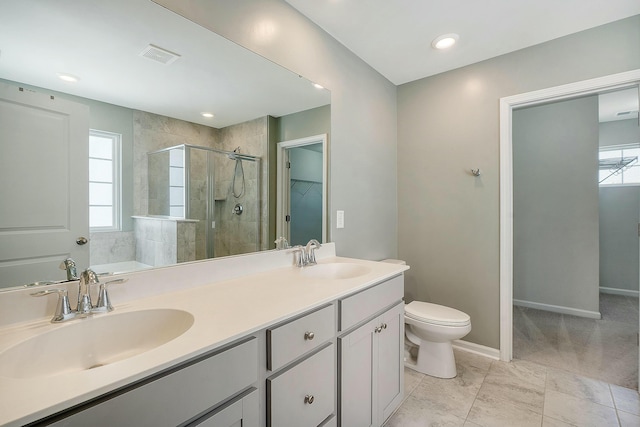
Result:
{"label": "beige tile walls around shower and tub, reflected in mirror", "polygon": [[[198,145],[209,148],[233,151],[240,147],[242,154],[263,159],[262,168],[257,170],[255,163],[243,161],[245,172],[245,194],[236,199],[231,194],[231,183],[235,162],[222,156],[216,164],[215,215],[216,234],[214,236],[215,256],[227,256],[254,252],[267,247],[268,221],[268,118],[258,118],[249,122],[215,129],[189,123],[183,120],[147,113],[133,112],[133,212],[145,216],[149,213],[148,159],[147,153],[180,144]],[[206,163],[200,156],[194,156],[191,182],[192,217],[204,219],[206,214],[206,179],[202,173]],[[257,188],[257,176],[261,174],[260,188]],[[260,202],[256,202],[255,193],[260,193]],[[243,214],[231,213],[236,203],[244,207]],[[205,227],[206,221],[195,226],[195,241],[192,245],[175,248],[175,259],[192,259],[191,246],[194,246],[195,259],[206,257]],[[146,235],[149,235],[147,233]],[[256,235],[259,237],[256,245]],[[93,233],[91,236],[92,264],[107,264],[121,261],[161,259],[158,245],[151,244],[146,238],[136,238],[134,231]],[[144,243],[146,242],[146,243]],[[139,245],[144,247],[139,247]],[[151,253],[151,247],[154,247]],[[167,247],[169,259],[173,259],[173,249]],[[168,260],[165,260],[168,262]]]}

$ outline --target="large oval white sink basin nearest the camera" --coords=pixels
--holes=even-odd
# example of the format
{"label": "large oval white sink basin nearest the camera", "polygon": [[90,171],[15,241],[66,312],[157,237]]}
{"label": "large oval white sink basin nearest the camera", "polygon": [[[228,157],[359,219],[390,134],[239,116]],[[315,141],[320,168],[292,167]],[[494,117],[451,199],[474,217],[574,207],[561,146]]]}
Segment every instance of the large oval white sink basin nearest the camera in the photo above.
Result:
{"label": "large oval white sink basin nearest the camera", "polygon": [[99,368],[166,344],[193,320],[191,313],[173,309],[72,320],[0,353],[0,376],[38,378]]}

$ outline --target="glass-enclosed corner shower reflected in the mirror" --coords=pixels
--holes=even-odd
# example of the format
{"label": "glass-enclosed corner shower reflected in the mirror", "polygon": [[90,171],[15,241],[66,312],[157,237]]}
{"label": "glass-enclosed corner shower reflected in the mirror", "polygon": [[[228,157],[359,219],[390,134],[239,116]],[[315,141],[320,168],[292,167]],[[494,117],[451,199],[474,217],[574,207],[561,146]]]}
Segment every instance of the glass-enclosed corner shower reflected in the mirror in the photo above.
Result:
{"label": "glass-enclosed corner shower reflected in the mirror", "polygon": [[148,215],[195,223],[193,260],[260,249],[259,157],[182,144],[147,158]]}

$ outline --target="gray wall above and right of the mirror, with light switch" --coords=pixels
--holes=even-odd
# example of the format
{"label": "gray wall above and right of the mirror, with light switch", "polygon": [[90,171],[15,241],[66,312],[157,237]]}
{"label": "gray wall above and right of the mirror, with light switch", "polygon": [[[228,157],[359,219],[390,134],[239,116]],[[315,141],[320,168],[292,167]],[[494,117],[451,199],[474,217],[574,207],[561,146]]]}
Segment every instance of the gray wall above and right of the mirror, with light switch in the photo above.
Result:
{"label": "gray wall above and right of the mirror, with light switch", "polygon": [[156,2],[331,90],[330,240],[342,256],[397,256],[396,87],[283,0]]}

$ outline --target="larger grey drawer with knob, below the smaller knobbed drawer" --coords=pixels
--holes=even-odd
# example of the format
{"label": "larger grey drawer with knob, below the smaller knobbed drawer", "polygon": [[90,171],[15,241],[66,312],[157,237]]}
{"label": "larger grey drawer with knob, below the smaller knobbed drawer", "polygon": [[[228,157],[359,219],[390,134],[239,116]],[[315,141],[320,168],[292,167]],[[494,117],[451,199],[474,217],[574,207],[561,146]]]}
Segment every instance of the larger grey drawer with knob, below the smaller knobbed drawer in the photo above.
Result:
{"label": "larger grey drawer with knob, below the smaller knobbed drawer", "polygon": [[267,425],[270,427],[294,424],[296,427],[316,427],[333,414],[334,345],[327,345],[298,365],[267,379],[267,399]]}

